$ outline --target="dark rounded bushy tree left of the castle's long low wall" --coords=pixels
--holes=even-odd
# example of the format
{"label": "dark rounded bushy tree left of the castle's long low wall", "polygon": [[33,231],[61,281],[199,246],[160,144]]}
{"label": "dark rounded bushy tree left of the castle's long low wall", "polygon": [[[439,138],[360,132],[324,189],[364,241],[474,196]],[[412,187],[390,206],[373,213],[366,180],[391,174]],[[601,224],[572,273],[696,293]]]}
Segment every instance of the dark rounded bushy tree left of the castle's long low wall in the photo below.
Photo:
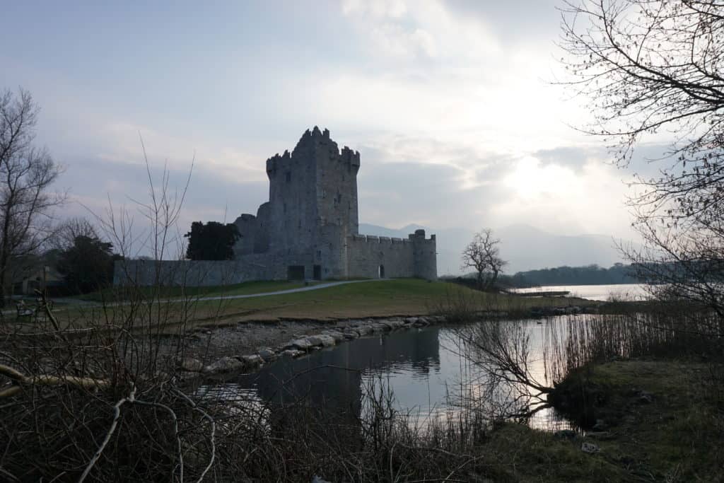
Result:
{"label": "dark rounded bushy tree left of the castle's long low wall", "polygon": [[120,257],[114,255],[111,243],[78,235],[72,246],[60,252],[57,269],[71,290],[88,293],[113,282],[113,264],[117,259]]}

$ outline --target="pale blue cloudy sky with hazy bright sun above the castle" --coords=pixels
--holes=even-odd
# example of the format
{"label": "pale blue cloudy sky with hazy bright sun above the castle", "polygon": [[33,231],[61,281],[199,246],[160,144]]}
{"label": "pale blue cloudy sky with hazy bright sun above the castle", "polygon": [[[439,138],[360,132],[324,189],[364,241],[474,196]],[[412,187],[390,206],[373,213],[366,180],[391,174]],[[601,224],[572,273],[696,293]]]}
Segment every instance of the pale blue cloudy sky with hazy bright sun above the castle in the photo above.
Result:
{"label": "pale blue cloudy sky with hazy bright sun above the castle", "polygon": [[63,216],[146,199],[143,146],[156,182],[193,161],[182,227],[255,214],[319,125],[361,153],[361,222],[633,237],[631,172],[555,83],[559,1],[3,3],[0,88],[41,106]]}

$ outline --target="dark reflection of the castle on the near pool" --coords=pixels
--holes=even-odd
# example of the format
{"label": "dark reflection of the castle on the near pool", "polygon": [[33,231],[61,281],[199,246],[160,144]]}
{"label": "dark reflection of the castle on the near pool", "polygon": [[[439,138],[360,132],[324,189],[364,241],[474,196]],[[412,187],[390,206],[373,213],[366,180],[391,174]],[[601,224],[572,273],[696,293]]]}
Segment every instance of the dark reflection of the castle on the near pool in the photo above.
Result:
{"label": "dark reflection of the castle on the near pool", "polygon": [[[237,382],[256,387],[263,400],[304,403],[323,408],[350,408],[359,416],[362,403],[362,373],[374,369],[384,373],[404,366],[427,374],[439,367],[438,329],[405,331],[385,337],[363,337],[332,350],[320,350],[299,359],[279,359],[256,374],[245,374]],[[282,385],[282,382],[287,382]]]}

